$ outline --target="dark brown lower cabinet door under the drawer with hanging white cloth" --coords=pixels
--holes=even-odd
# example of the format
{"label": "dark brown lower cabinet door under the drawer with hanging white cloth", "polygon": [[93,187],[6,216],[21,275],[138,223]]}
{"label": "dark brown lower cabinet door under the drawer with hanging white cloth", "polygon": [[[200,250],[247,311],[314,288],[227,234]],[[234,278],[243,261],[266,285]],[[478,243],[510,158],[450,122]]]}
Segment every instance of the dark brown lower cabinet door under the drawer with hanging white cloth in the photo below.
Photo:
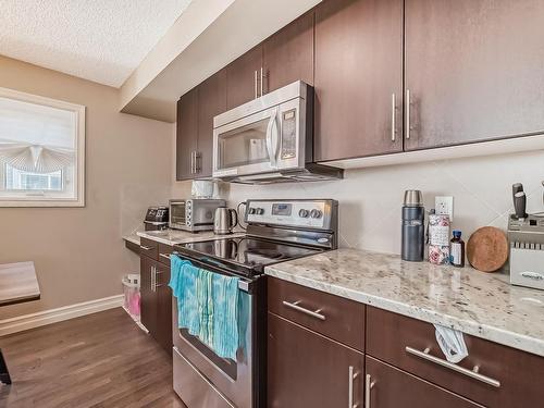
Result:
{"label": "dark brown lower cabinet door under the drawer with hanging white cloth", "polygon": [[366,408],[483,407],[369,356],[366,370]]}

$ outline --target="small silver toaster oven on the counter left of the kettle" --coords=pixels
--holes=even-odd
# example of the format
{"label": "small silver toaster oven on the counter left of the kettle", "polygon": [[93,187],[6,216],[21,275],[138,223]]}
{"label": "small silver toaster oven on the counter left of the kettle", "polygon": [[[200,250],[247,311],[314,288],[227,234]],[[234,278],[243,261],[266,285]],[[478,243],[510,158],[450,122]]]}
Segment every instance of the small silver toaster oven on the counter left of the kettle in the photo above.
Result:
{"label": "small silver toaster oven on the counter left of the kettle", "polygon": [[169,226],[189,232],[213,230],[213,218],[219,207],[226,201],[220,199],[172,199],[170,200]]}

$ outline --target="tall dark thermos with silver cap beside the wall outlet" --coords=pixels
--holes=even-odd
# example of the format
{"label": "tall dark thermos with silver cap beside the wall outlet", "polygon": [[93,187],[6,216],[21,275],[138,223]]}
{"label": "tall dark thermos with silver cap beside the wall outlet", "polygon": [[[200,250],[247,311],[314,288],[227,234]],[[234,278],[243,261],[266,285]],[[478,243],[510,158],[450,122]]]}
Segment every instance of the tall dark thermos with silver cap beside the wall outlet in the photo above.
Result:
{"label": "tall dark thermos with silver cap beside the wall outlet", "polygon": [[420,190],[405,191],[403,206],[403,243],[400,257],[405,261],[421,262],[425,250],[425,209]]}

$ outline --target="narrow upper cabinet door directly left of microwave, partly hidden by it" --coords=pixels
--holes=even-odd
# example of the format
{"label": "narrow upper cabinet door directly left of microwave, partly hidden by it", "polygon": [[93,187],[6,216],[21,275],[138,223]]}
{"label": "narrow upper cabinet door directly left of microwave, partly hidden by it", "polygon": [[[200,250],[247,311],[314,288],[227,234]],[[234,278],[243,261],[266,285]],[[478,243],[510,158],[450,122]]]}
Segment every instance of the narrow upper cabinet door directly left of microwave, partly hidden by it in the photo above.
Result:
{"label": "narrow upper cabinet door directly left of microwave, partly hidden by it", "polygon": [[211,177],[213,165],[213,116],[226,111],[226,69],[198,86],[197,177]]}

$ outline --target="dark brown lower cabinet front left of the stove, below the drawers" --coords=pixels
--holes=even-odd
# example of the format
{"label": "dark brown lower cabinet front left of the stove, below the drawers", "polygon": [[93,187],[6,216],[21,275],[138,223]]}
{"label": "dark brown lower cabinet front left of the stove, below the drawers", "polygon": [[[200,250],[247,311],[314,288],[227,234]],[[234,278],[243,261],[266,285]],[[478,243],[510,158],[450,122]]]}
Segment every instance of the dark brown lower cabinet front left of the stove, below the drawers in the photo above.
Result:
{"label": "dark brown lower cabinet front left of the stove, below the drawers", "polygon": [[170,267],[140,257],[140,318],[149,334],[172,354],[172,292]]}

